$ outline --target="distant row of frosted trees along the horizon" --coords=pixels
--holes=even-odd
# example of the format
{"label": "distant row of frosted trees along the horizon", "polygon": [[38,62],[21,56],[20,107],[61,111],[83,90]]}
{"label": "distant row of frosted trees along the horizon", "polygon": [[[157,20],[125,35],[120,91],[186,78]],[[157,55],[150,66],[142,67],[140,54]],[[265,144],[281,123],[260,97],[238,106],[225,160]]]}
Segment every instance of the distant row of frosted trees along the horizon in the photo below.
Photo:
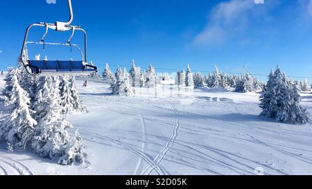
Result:
{"label": "distant row of frosted trees along the horizon", "polygon": [[[116,73],[113,74],[110,71],[110,66],[105,65],[103,71],[103,78],[106,82],[113,83],[116,80],[116,75],[120,75],[119,72],[124,72],[122,76],[128,77],[131,87],[149,87],[153,88],[157,85],[157,77],[155,74],[155,69],[153,66],[149,66],[145,72],[141,71],[140,67],[135,66],[135,62],[132,62],[132,67],[129,73],[125,70],[117,69]],[[162,78],[164,78],[162,76]],[[165,78],[170,80],[169,78]],[[295,85],[298,91],[311,91],[311,85],[307,80],[296,81],[290,80],[290,82]],[[191,68],[187,65],[186,71],[182,69],[177,71],[175,75],[175,84],[184,87],[210,87],[210,88],[222,88],[222,89],[234,89],[236,92],[254,92],[261,91],[266,87],[266,82],[261,82],[257,78],[252,77],[252,75],[246,73],[243,75],[228,75],[227,73],[222,73],[216,66],[214,73],[209,73],[208,75],[203,75],[200,72],[192,73]]]}

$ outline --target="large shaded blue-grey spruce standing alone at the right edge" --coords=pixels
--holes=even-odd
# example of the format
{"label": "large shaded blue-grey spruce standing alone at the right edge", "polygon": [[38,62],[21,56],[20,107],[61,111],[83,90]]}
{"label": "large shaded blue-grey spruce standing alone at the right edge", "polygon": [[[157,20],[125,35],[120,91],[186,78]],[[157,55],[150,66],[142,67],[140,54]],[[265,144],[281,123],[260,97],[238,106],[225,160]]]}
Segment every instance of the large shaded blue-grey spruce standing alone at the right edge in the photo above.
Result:
{"label": "large shaded blue-grey spruce standing alone at the right edge", "polygon": [[270,73],[266,92],[260,96],[261,116],[275,118],[277,122],[305,124],[309,121],[306,109],[300,106],[300,95],[295,86],[289,84],[284,73],[277,67]]}

